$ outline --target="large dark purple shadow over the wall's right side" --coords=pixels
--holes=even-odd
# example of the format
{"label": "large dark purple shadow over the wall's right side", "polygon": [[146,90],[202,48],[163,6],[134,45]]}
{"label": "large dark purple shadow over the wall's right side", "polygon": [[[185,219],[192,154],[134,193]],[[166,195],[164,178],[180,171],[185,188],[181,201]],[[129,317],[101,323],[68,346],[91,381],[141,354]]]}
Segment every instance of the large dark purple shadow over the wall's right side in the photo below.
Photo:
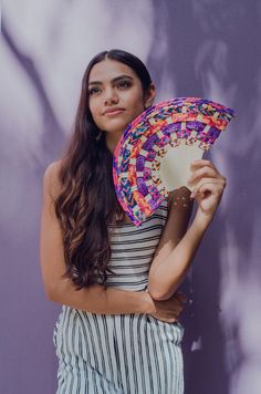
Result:
{"label": "large dark purple shadow over the wall's right side", "polygon": [[[254,363],[257,366],[254,360],[259,360],[257,350],[254,353],[248,341],[241,343],[239,332],[246,314],[237,301],[244,279],[251,272],[260,278],[253,222],[258,220],[260,225],[261,221],[254,209],[261,198],[255,180],[261,168],[258,144],[261,48],[252,43],[260,37],[261,7],[258,1],[243,0],[154,0],[154,8],[155,25],[160,27],[166,46],[164,63],[161,60],[159,65],[157,45],[160,46],[160,41],[155,29],[149,66],[155,70],[159,86],[166,85],[165,77],[175,86],[173,95],[216,100],[234,108],[238,115],[228,134],[207,157],[226,175],[228,185],[221,207],[195,258],[190,280],[182,286],[185,292],[192,294],[182,322],[186,326],[186,394],[241,394],[246,393],[246,379],[254,382],[247,377],[247,371]],[[220,160],[211,157],[215,155]],[[242,207],[247,207],[247,215],[242,215]],[[234,260],[230,251],[233,247],[239,257]],[[244,289],[251,293],[254,290],[251,281],[249,283]],[[222,311],[219,304],[225,305]],[[252,377],[255,382],[259,379],[258,375]],[[251,393],[258,393],[257,384],[248,384]]]}

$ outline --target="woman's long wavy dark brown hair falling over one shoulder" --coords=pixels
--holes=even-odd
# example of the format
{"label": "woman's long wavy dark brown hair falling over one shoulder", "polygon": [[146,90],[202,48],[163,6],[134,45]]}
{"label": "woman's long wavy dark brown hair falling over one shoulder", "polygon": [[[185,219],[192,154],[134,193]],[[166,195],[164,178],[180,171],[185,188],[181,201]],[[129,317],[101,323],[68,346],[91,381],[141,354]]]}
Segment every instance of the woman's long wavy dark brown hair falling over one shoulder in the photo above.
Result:
{"label": "woman's long wavy dark brown hair falling over one shoulder", "polygon": [[88,63],[82,81],[73,134],[61,159],[61,193],[55,214],[63,234],[65,278],[76,289],[87,287],[113,272],[108,225],[124,220],[113,183],[113,154],[106,146],[105,133],[95,125],[88,107],[88,76],[94,64],[105,58],[134,70],[142,82],[144,95],[152,83],[144,63],[129,52],[111,50],[98,53]]}

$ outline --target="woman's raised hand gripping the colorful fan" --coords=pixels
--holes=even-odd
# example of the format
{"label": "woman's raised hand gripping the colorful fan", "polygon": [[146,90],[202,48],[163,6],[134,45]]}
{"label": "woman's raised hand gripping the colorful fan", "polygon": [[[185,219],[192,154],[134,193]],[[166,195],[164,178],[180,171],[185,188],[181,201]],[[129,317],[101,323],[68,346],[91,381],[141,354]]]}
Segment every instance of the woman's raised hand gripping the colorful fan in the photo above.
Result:
{"label": "woman's raised hand gripping the colorful fan", "polygon": [[188,185],[192,187],[190,198],[198,203],[198,211],[212,218],[221,200],[227,180],[213,164],[206,159],[195,160],[190,165],[192,175]]}

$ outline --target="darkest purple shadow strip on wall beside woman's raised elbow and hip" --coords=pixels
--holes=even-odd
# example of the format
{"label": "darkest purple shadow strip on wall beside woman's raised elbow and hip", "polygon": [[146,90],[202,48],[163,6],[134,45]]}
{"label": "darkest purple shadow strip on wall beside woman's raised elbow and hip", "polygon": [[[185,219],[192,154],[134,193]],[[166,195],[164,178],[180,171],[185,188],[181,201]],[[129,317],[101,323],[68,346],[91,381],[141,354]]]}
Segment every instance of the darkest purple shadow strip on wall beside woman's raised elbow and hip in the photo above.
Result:
{"label": "darkest purple shadow strip on wall beside woman's raised elbow and hip", "polygon": [[[211,155],[203,157],[212,162]],[[197,204],[195,211],[196,207]],[[229,393],[219,301],[221,243],[217,241],[217,235],[222,232],[222,219],[216,215],[197,251],[194,268],[180,287],[180,291],[188,296],[181,315],[186,394]]]}

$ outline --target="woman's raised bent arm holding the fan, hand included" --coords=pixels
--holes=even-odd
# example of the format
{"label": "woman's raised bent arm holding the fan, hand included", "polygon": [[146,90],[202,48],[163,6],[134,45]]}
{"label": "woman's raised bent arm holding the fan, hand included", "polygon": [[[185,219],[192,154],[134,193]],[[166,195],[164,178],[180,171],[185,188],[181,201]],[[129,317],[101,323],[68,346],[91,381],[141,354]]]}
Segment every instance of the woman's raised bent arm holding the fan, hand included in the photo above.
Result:
{"label": "woman's raised bent arm holding the fan, hand included", "polygon": [[[187,207],[182,208],[181,200],[178,201],[174,195],[169,217],[149,271],[148,291],[155,300],[169,299],[185,279],[226,186],[225,177],[209,160],[197,160],[191,168],[190,184],[194,189],[190,197],[196,196],[198,209],[186,232],[191,207],[187,203]],[[180,194],[181,190],[184,200],[188,201],[190,191],[181,188]]]}

